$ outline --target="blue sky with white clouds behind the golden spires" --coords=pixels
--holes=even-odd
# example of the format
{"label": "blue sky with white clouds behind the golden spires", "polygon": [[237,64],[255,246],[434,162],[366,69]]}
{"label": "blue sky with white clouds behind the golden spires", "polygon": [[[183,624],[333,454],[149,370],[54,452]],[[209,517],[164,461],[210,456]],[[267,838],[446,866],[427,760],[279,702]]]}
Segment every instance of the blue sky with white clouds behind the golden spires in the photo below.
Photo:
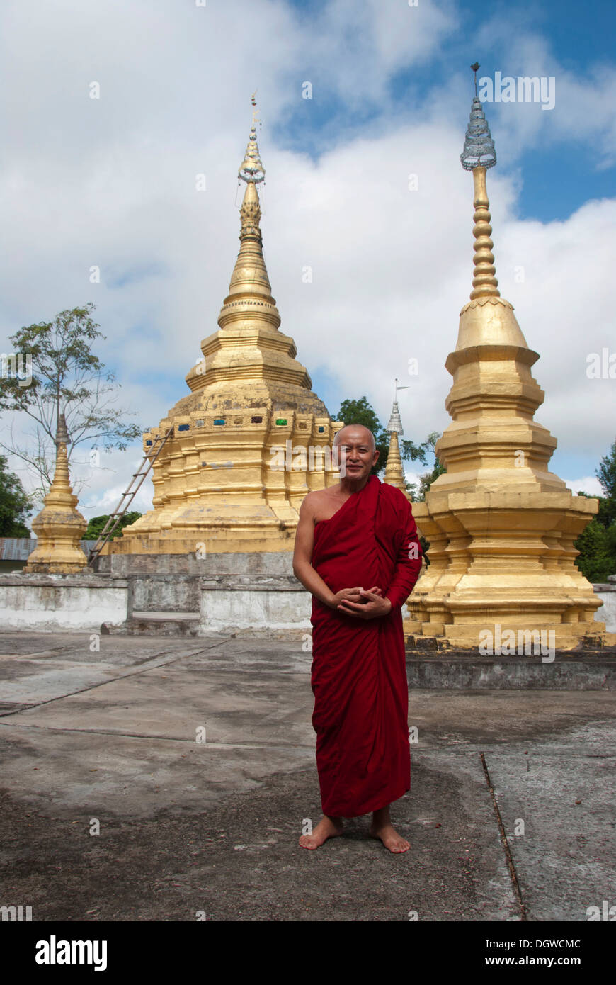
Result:
{"label": "blue sky with white clouds behind the golden spires", "polygon": [[[366,396],[386,424],[398,377],[404,436],[444,430],[472,279],[469,66],[493,88],[542,79],[551,106],[483,104],[496,276],[540,355],[550,469],[600,493],[594,470],[616,437],[612,0],[48,0],[35,16],[5,0],[0,17],[0,352],[20,327],[92,301],[96,352],[144,429],[189,392],[217,329],[257,91],[280,330],[333,416]],[[3,415],[10,425],[29,440]],[[86,517],[116,506],[142,453],[136,442],[74,464]],[[131,508],[151,498],[147,483]]]}

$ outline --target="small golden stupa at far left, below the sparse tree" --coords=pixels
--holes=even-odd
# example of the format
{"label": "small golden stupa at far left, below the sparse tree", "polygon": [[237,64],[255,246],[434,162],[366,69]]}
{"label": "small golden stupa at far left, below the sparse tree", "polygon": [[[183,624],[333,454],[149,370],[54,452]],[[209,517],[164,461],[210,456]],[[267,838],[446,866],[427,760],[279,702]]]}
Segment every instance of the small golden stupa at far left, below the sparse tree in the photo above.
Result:
{"label": "small golden stupa at far left, below the sparse tree", "polygon": [[24,567],[26,574],[75,574],[88,564],[80,547],[88,523],[75,508],[78,498],[70,485],[69,435],[64,414],[58,416],[55,443],[53,482],[43,499],[43,508],[31,522],[37,542]]}

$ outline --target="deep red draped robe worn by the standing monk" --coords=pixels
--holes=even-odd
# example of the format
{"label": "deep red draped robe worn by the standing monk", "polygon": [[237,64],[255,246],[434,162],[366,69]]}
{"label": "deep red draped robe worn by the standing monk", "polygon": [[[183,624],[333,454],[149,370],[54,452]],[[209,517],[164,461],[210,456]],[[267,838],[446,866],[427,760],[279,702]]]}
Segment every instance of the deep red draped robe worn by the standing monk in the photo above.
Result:
{"label": "deep red draped robe worn by the standing monk", "polygon": [[400,607],[419,576],[421,548],[406,496],[370,476],[331,519],[315,524],[311,563],[333,592],[377,585],[392,602],[388,616],[361,620],[312,599],[312,724],[323,813],[356,818],[410,789]]}

